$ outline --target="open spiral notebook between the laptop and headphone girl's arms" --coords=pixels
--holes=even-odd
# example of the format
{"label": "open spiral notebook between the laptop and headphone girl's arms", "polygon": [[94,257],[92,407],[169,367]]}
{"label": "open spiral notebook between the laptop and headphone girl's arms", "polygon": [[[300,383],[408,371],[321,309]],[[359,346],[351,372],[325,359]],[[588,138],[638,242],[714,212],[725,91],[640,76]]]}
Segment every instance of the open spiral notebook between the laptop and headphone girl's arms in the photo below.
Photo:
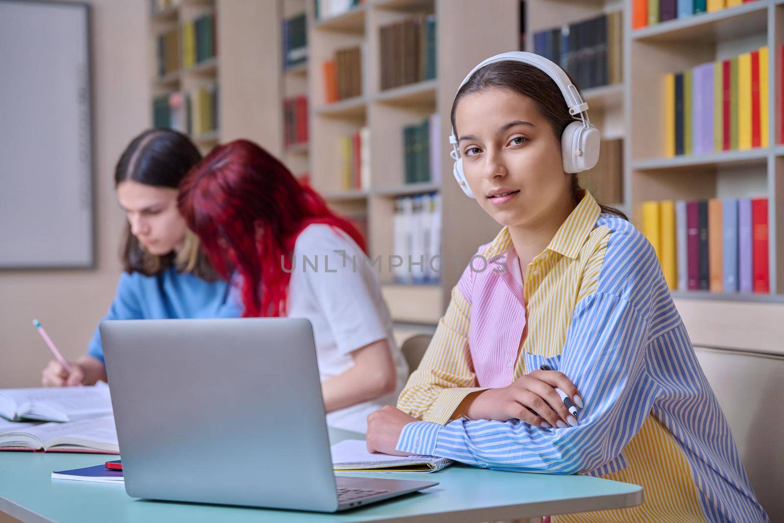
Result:
{"label": "open spiral notebook between the laptop and headphone girl's arms", "polygon": [[437,456],[371,454],[365,441],[347,439],[332,445],[332,469],[339,472],[436,472],[452,463]]}

